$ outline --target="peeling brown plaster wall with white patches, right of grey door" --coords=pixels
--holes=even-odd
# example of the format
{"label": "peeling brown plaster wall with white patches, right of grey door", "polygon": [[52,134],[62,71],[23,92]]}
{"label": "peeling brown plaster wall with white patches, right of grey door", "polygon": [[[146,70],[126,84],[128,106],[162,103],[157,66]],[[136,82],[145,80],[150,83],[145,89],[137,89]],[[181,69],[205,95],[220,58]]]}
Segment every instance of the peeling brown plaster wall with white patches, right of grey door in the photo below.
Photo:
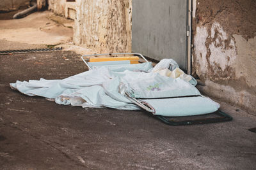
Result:
{"label": "peeling brown plaster wall with white patches, right of grey door", "polygon": [[206,84],[200,90],[254,115],[255,9],[255,0],[193,0],[193,74]]}

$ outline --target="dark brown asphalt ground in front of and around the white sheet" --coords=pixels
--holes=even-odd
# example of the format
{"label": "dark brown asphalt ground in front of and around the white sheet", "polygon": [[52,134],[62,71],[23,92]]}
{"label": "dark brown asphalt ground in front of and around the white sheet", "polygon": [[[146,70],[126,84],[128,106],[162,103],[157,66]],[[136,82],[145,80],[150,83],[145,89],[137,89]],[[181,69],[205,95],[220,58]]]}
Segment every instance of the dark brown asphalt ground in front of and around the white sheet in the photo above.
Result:
{"label": "dark brown asphalt ground in front of and around the white sheet", "polygon": [[143,111],[63,106],[10,89],[85,71],[74,52],[0,63],[1,169],[255,169],[256,118],[236,107],[221,103],[232,122],[172,127]]}

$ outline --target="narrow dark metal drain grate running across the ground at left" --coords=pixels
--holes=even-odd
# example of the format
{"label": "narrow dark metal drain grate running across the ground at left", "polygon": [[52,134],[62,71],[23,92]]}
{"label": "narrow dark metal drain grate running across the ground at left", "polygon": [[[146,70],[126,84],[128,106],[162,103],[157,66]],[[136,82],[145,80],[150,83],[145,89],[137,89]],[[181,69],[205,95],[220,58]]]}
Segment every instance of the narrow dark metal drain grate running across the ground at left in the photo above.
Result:
{"label": "narrow dark metal drain grate running across the ground at left", "polygon": [[28,50],[6,50],[0,51],[0,55],[15,54],[15,53],[33,53],[33,52],[52,52],[61,51],[62,47],[58,48],[39,48],[39,49],[28,49]]}

